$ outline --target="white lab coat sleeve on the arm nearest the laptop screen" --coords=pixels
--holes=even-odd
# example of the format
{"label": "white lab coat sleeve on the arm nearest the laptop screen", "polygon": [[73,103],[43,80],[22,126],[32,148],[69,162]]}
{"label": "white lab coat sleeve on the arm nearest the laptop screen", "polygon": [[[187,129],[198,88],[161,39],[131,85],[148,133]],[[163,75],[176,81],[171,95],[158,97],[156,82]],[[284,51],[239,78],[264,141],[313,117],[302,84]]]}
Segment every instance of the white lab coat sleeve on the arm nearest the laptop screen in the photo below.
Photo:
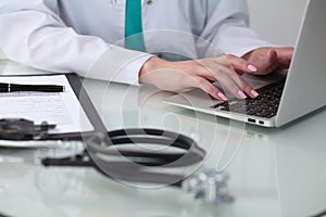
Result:
{"label": "white lab coat sleeve on the arm nearest the laptop screen", "polygon": [[260,39],[249,27],[246,0],[208,0],[206,10],[208,22],[201,38],[210,41],[212,47],[221,49],[223,53],[242,56],[254,49],[274,46]]}

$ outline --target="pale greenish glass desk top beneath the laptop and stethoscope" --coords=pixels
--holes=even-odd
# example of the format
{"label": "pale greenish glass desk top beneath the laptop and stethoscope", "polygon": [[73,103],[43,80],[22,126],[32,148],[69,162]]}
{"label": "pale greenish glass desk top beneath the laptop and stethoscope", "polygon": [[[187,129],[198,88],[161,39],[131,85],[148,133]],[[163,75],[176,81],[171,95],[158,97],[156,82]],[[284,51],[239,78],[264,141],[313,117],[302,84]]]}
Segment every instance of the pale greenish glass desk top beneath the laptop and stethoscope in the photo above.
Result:
{"label": "pale greenish glass desk top beneath the laptop and stethoscope", "polygon": [[[1,74],[40,73],[0,61]],[[174,93],[85,79],[108,130],[154,127],[206,151],[201,169],[229,175],[234,203],[206,204],[175,188],[135,188],[91,168],[0,164],[0,212],[9,216],[308,217],[326,209],[325,107],[266,129],[164,104]],[[23,152],[0,150],[1,152]],[[24,153],[23,153],[24,154]]]}

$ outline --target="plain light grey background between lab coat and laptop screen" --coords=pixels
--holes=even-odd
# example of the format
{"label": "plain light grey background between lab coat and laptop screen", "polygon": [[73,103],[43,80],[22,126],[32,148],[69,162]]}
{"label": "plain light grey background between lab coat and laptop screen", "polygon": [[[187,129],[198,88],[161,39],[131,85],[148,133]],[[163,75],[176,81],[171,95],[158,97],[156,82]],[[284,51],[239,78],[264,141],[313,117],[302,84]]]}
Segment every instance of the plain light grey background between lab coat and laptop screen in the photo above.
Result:
{"label": "plain light grey background between lab coat and laptop screen", "polygon": [[[231,1],[231,0],[230,0]],[[306,0],[248,0],[251,27],[275,44],[294,46]],[[4,58],[0,49],[0,59]]]}

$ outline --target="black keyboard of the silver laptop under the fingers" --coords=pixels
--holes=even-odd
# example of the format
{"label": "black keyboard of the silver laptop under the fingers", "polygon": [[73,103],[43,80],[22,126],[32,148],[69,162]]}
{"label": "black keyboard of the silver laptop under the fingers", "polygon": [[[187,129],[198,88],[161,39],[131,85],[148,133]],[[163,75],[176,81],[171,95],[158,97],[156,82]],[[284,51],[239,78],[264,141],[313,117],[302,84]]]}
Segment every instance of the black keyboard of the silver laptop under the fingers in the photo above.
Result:
{"label": "black keyboard of the silver laptop under the fingers", "polygon": [[285,80],[262,87],[256,90],[260,95],[255,99],[230,99],[228,101],[217,103],[211,107],[234,113],[272,118],[277,113],[284,85]]}

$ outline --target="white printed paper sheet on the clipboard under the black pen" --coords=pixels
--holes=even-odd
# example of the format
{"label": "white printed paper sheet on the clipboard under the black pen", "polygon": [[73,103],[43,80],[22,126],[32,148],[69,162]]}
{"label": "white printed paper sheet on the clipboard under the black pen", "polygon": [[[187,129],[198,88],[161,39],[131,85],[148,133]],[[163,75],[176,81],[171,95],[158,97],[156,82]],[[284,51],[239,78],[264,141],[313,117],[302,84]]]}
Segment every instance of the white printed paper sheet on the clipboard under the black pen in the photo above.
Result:
{"label": "white printed paper sheet on the clipboard under the black pen", "polygon": [[61,85],[64,92],[10,92],[0,93],[0,118],[25,118],[40,124],[57,125],[51,133],[91,131],[93,127],[67,78],[54,76],[1,77],[0,82],[24,85]]}

